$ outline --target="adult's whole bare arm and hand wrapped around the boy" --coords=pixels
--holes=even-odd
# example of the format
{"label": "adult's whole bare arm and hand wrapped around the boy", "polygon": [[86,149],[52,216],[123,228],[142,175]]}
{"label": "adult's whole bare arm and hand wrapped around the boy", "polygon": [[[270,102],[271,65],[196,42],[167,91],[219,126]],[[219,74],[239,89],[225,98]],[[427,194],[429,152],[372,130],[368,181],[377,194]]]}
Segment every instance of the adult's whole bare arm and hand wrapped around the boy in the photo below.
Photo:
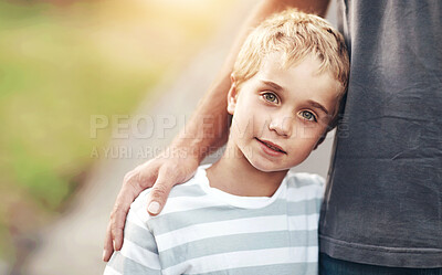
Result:
{"label": "adult's whole bare arm and hand wrapped around the boy", "polygon": [[[120,250],[127,211],[134,199],[152,187],[148,199],[148,212],[158,214],[166,203],[170,189],[192,177],[202,159],[213,149],[225,144],[229,135],[227,94],[230,74],[240,47],[252,28],[270,14],[286,8],[324,17],[329,0],[264,0],[260,1],[240,29],[233,46],[218,77],[198,104],[186,130],[182,130],[160,156],[129,171],[118,193],[107,226],[103,260],[108,261],[113,251]],[[210,118],[211,127],[208,127]]]}

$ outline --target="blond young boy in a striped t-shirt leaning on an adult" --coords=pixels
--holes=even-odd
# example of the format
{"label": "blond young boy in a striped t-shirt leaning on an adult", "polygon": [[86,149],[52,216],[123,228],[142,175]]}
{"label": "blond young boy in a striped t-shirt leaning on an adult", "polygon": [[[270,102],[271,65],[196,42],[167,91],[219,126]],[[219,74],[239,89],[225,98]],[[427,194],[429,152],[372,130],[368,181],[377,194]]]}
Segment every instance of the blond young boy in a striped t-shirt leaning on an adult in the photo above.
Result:
{"label": "blond young boy in a striped t-shirt leaning on an adult", "polygon": [[232,73],[221,159],[172,189],[157,216],[143,192],[105,274],[317,274],[324,179],[287,173],[336,123],[349,63],[323,19],[287,10],[257,27]]}

